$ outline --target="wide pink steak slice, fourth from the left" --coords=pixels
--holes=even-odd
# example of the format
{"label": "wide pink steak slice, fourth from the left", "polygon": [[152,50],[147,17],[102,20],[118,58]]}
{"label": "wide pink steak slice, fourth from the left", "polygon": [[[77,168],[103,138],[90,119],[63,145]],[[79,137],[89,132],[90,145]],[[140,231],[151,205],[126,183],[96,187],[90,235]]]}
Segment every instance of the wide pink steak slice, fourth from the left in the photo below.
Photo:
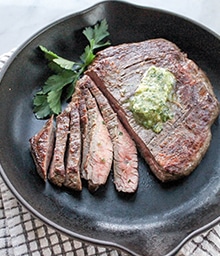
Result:
{"label": "wide pink steak slice, fourth from the left", "polygon": [[82,176],[88,180],[89,190],[95,191],[107,181],[112,166],[113,146],[96,101],[86,88],[87,83],[86,77],[78,82],[85,97],[88,115],[83,145]]}

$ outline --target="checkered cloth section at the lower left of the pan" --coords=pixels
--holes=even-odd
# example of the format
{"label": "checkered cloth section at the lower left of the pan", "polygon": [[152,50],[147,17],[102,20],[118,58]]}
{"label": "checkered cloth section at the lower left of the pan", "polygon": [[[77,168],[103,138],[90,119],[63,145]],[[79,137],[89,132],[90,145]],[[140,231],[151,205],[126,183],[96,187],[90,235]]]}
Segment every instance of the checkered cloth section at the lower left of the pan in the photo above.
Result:
{"label": "checkered cloth section at the lower left of the pan", "polygon": [[125,253],[95,247],[56,232],[21,206],[1,178],[0,186],[2,196],[0,255],[126,256]]}

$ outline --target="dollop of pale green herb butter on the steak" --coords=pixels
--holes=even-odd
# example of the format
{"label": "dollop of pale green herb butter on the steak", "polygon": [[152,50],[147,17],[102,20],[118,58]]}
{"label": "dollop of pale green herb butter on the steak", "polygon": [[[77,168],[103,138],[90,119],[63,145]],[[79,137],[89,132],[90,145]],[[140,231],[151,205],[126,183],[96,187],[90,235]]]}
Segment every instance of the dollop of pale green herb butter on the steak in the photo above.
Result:
{"label": "dollop of pale green herb butter on the steak", "polygon": [[151,66],[141,79],[130,108],[138,123],[159,133],[163,123],[172,118],[170,102],[173,98],[175,76],[165,68]]}

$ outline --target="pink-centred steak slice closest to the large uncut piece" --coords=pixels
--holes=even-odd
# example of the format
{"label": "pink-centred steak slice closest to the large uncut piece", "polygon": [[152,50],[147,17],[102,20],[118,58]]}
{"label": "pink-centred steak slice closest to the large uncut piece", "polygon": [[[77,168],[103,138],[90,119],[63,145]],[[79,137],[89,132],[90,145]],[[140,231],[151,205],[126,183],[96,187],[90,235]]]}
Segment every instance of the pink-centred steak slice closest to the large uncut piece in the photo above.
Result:
{"label": "pink-centred steak slice closest to the large uncut piece", "polygon": [[113,143],[113,171],[116,189],[135,192],[138,186],[138,159],[134,141],[119,121],[108,100],[87,76],[87,86],[95,97]]}

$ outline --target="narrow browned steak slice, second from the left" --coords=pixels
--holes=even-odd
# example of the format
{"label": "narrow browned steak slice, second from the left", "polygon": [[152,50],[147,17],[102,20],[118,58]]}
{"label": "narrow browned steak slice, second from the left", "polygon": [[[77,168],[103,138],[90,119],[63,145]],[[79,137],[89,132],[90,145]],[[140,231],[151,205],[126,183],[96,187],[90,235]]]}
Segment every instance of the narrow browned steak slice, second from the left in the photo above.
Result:
{"label": "narrow browned steak slice, second from the left", "polygon": [[71,105],[56,117],[56,138],[53,158],[50,165],[49,180],[57,186],[62,186],[65,181],[65,152],[69,134]]}

